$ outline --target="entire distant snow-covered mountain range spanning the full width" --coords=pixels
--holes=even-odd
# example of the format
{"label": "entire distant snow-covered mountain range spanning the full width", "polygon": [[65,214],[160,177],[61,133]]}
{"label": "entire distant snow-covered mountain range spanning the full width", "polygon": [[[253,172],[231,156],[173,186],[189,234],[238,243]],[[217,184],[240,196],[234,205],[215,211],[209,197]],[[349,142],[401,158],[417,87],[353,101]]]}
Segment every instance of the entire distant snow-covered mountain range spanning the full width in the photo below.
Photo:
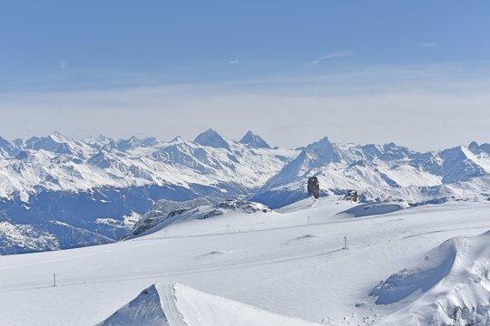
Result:
{"label": "entire distant snow-covered mountain range spanning the full width", "polygon": [[208,129],[177,137],[75,140],[0,138],[0,254],[105,244],[126,235],[155,201],[247,197],[272,208],[307,196],[357,190],[362,201],[411,205],[490,196],[490,144],[418,153],[393,143],[270,148]]}

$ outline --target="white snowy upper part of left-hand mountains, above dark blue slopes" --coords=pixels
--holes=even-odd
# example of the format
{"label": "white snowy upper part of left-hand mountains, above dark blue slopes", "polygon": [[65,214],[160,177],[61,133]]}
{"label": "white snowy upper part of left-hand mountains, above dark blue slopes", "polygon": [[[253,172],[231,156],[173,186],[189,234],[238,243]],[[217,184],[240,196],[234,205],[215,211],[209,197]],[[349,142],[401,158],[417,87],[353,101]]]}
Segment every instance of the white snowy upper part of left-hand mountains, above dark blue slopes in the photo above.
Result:
{"label": "white snowy upper part of left-hand mountains, above dark blue slopes", "polygon": [[[209,132],[214,138],[201,139]],[[148,185],[220,188],[223,183],[236,183],[257,188],[298,153],[250,147],[213,130],[201,136],[201,142],[181,138],[161,142],[134,136],[75,140],[54,132],[28,139],[10,155],[4,149],[0,157],[0,198],[19,197],[28,202],[29,196],[46,190],[77,192]],[[213,146],[216,139],[220,146]]]}

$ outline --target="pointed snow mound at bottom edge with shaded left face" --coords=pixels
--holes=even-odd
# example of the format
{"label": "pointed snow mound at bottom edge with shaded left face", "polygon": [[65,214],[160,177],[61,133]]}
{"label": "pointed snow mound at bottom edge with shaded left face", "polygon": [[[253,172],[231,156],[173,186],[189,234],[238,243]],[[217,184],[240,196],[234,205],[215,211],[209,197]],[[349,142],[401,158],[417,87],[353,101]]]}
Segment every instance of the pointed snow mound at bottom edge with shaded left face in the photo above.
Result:
{"label": "pointed snow mound at bottom edge with shaded left face", "polygon": [[318,325],[200,292],[156,283],[97,326]]}

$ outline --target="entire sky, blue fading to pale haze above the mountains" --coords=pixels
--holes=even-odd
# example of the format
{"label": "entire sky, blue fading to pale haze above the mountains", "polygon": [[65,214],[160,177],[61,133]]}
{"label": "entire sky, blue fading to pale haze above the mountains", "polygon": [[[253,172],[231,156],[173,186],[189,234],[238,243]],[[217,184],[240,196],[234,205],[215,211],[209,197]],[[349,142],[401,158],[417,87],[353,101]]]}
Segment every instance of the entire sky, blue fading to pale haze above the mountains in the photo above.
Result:
{"label": "entire sky, blue fading to pale haze above the mountains", "polygon": [[490,142],[485,1],[114,4],[6,5],[0,136]]}

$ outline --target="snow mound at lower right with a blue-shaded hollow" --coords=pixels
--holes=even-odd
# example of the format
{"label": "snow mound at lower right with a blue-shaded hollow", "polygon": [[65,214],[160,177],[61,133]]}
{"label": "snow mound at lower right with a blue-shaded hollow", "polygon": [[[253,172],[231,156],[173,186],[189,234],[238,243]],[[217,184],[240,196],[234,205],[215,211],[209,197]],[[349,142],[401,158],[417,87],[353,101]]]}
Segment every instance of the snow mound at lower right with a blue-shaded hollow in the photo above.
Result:
{"label": "snow mound at lower right with a blue-shaded hollow", "polygon": [[380,325],[488,325],[490,232],[456,237],[370,292],[377,304],[405,301]]}

